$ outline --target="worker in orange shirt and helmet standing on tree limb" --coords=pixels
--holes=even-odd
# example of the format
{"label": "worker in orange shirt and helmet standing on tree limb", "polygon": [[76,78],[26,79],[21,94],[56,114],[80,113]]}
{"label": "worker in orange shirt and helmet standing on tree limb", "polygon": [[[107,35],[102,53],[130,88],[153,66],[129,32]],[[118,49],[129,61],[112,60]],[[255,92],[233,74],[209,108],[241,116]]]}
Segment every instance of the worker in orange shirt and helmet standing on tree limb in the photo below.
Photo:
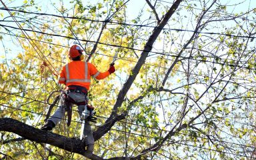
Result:
{"label": "worker in orange shirt and helmet standing on tree limb", "polygon": [[[79,116],[82,117],[82,112],[85,111],[85,104],[87,104],[87,92],[91,84],[91,76],[96,79],[105,79],[111,73],[115,72],[114,65],[109,67],[108,71],[103,73],[99,72],[96,67],[88,62],[81,61],[84,59],[83,50],[78,45],[73,45],[69,49],[69,59],[71,62],[63,66],[60,76],[59,83],[65,84],[65,106],[57,108],[55,113],[47,120],[45,125],[41,129],[50,131],[63,119],[65,115],[65,109],[71,107],[72,104],[78,106]],[[70,125],[70,122],[67,124]],[[91,131],[89,121],[85,121],[85,127],[83,130],[83,137],[85,137],[85,145],[89,153],[93,152],[94,139]]]}

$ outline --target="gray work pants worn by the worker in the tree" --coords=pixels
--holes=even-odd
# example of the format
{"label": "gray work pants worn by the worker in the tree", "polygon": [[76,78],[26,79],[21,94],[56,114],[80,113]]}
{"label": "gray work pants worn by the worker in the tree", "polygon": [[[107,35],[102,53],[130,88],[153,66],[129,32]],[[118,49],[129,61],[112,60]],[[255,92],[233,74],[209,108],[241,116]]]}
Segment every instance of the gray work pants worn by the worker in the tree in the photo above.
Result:
{"label": "gray work pants worn by the worker in the tree", "polygon": [[[80,93],[74,93],[71,92],[68,94],[69,97],[71,97],[75,102],[83,102],[85,101],[86,97],[83,94]],[[82,112],[85,110],[85,105],[78,105],[78,113],[79,116],[81,117]],[[65,114],[65,107],[59,106],[55,113],[48,119],[48,121],[53,121],[55,125],[63,119]],[[89,125],[89,121],[85,123],[85,128],[83,129],[83,137],[85,137],[85,145],[93,144],[94,139],[93,139],[93,133],[91,131],[91,125]]]}

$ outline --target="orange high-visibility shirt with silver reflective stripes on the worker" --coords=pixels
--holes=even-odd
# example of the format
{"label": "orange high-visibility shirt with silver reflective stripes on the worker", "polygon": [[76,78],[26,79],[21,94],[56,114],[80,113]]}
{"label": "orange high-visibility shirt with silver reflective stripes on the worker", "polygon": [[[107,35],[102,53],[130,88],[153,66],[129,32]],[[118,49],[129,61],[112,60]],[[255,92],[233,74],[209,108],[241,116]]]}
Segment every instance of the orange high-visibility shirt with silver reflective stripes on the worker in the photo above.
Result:
{"label": "orange high-visibility shirt with silver reflective stripes on the worker", "polygon": [[96,79],[104,79],[109,75],[109,71],[99,72],[96,67],[83,61],[71,61],[62,67],[59,83],[69,85],[79,85],[89,90],[91,84],[91,76]]}

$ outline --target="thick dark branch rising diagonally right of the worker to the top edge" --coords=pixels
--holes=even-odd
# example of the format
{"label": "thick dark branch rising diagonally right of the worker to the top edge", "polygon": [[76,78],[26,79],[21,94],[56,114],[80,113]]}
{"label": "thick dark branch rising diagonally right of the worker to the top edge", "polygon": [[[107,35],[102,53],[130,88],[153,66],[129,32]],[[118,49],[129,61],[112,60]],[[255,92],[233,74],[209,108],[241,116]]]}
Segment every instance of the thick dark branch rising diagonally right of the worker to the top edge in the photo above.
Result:
{"label": "thick dark branch rising diagonally right of the worker to the top edge", "polygon": [[119,109],[119,107],[121,107],[121,105],[125,99],[125,96],[127,95],[127,92],[129,91],[131,85],[133,84],[133,81],[135,81],[142,65],[145,63],[145,60],[146,60],[147,56],[149,55],[149,51],[151,51],[151,49],[153,47],[153,43],[155,43],[155,40],[161,33],[163,27],[165,27],[165,25],[167,24],[167,22],[173,15],[173,13],[175,13],[175,11],[179,7],[179,3],[181,3],[181,1],[182,0],[177,0],[177,1],[175,1],[175,3],[173,3],[173,5],[169,9],[169,11],[165,14],[165,17],[163,17],[163,20],[153,30],[153,33],[151,34],[151,36],[149,37],[149,40],[147,41],[147,43],[144,46],[144,49],[143,49],[143,52],[141,53],[141,57],[139,58],[139,61],[135,65],[134,69],[131,72],[131,75],[129,76],[129,78],[127,79],[127,81],[123,85],[123,88],[121,89],[121,91],[119,92],[119,94],[117,96],[117,101],[113,107],[113,111],[112,111],[110,117],[107,119],[107,121],[105,121],[105,124],[103,126],[99,127],[93,133],[95,141],[97,141],[103,135],[105,135],[105,133],[107,133],[107,131],[109,131],[109,129],[111,129],[111,127],[115,124],[116,121],[119,121],[119,117],[117,117],[117,110]]}

